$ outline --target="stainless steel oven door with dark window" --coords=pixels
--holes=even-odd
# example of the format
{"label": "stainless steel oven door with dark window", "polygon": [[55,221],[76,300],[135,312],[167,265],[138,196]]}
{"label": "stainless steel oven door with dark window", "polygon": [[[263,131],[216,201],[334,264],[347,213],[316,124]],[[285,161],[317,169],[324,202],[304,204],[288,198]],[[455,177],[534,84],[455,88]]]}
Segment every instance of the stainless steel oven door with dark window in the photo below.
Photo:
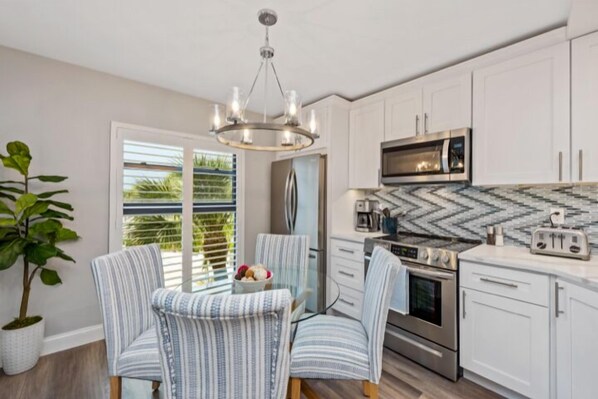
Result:
{"label": "stainless steel oven door with dark window", "polygon": [[388,323],[457,350],[457,273],[409,262],[403,265],[409,272],[409,314],[391,307]]}

